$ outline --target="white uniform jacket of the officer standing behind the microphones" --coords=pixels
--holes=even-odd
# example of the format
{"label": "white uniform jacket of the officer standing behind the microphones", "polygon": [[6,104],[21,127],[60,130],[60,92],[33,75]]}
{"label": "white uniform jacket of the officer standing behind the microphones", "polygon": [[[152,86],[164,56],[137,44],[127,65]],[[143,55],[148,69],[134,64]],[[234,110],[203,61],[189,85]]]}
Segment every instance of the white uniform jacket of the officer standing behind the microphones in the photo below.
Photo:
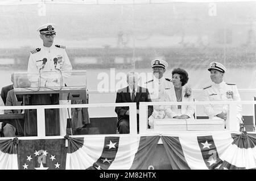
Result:
{"label": "white uniform jacket of the officer standing behind the microphones", "polygon": [[[53,58],[57,58],[57,69],[60,69],[61,71],[68,71],[72,70],[71,62],[69,61],[68,55],[65,51],[65,47],[62,45],[52,45],[51,47],[44,47],[41,46],[39,48],[36,48],[34,50],[31,50],[30,58],[28,60],[28,68],[27,71],[29,73],[38,73],[39,69],[43,66],[43,58],[47,58],[46,65],[41,71],[54,71],[55,65]],[[31,82],[37,82],[38,77],[33,74],[32,78],[30,77]],[[43,76],[46,76],[46,74],[43,74]],[[56,77],[58,74],[52,74],[49,75],[47,78],[53,78]],[[69,77],[69,74],[63,74],[64,78]],[[45,77],[46,78],[46,77]]]}

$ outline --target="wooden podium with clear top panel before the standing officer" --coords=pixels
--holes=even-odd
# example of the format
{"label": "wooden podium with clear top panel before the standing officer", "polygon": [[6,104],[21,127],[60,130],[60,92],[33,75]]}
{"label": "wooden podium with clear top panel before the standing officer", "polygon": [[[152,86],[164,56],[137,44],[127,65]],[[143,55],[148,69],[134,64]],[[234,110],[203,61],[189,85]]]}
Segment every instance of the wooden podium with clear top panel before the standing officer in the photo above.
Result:
{"label": "wooden podium with clear top panel before the standing officer", "polygon": [[[86,71],[41,71],[40,73],[14,73],[14,94],[23,106],[71,104],[71,100],[84,100]],[[25,136],[37,136],[36,109],[24,110]],[[71,118],[71,108],[45,109],[46,136],[60,136]],[[62,127],[61,127],[62,126]],[[40,128],[39,128],[40,129]]]}

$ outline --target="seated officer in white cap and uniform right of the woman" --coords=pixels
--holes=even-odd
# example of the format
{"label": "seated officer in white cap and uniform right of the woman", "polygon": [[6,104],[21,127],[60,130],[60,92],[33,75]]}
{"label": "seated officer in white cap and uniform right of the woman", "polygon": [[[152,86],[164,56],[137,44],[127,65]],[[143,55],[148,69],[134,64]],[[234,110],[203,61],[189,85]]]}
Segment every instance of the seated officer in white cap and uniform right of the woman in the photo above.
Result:
{"label": "seated officer in white cap and uniform right of the woman", "polygon": [[[238,93],[237,86],[234,83],[224,82],[224,75],[226,68],[219,62],[211,62],[208,68],[210,71],[210,79],[212,79],[212,85],[203,88],[203,101],[240,101],[240,94]],[[228,119],[228,105],[204,105],[205,113],[210,119]],[[237,131],[240,131],[240,124],[243,123],[242,106],[237,105],[237,120],[233,124],[236,124]]]}

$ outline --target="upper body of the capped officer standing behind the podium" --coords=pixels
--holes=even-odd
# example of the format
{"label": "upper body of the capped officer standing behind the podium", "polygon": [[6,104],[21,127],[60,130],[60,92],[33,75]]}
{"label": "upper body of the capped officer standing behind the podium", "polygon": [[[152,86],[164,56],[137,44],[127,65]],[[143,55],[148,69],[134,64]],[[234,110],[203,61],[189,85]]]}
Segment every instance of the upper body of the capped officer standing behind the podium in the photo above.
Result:
{"label": "upper body of the capped officer standing behind the podium", "polygon": [[[71,62],[63,45],[53,45],[53,40],[56,36],[55,24],[47,23],[38,28],[40,33],[40,39],[43,41],[43,45],[31,50],[30,58],[28,60],[28,73],[38,73],[40,69],[42,71],[55,71],[60,69],[61,71],[72,70]],[[55,69],[56,68],[56,69]],[[63,77],[68,77],[68,74],[63,74]],[[30,78],[31,83],[37,85],[38,77],[35,74]],[[55,82],[56,84],[51,84]],[[42,82],[40,86],[44,86],[49,83],[48,86],[60,85],[60,75],[57,73],[47,74],[42,73]]]}

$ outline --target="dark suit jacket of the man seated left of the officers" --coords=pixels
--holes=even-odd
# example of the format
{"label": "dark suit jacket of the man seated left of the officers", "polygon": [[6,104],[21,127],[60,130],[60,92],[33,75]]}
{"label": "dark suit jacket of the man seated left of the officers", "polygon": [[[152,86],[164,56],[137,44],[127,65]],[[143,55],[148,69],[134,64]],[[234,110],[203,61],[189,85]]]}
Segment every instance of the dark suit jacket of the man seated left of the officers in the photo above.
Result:
{"label": "dark suit jacket of the man seated left of the officers", "polygon": [[[117,91],[117,98],[115,103],[130,103],[131,102],[131,93],[129,86],[119,89]],[[151,102],[150,94],[148,90],[144,87],[139,87],[136,92],[135,102],[137,103],[137,110],[139,110],[139,102]],[[126,111],[129,110],[129,107],[115,107],[115,112],[117,113],[118,122],[121,119],[129,119],[128,115],[125,115]],[[151,116],[153,112],[153,106],[148,106],[148,117]],[[137,120],[139,120],[139,115],[137,114]]]}

